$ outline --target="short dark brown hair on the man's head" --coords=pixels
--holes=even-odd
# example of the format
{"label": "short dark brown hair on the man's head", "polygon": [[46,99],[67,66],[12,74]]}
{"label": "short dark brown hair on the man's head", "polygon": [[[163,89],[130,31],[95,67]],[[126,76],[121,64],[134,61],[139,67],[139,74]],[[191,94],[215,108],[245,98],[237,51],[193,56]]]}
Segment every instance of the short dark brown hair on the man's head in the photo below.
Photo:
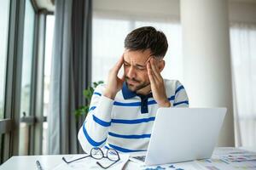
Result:
{"label": "short dark brown hair on the man's head", "polygon": [[152,26],[143,26],[125,37],[125,48],[132,51],[150,49],[151,55],[164,57],[168,48],[166,35]]}

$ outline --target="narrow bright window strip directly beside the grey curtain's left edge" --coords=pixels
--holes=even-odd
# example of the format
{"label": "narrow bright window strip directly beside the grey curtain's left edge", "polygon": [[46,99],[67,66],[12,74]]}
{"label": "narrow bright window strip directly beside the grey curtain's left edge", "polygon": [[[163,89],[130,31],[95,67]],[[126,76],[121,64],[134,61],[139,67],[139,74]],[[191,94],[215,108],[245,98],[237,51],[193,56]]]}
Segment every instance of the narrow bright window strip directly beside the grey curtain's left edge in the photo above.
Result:
{"label": "narrow bright window strip directly beside the grey curtain's left edge", "polygon": [[[44,116],[49,112],[49,85],[51,71],[51,54],[54,35],[55,16],[47,15],[44,55]],[[47,154],[47,129],[48,122],[43,124],[43,155]]]}

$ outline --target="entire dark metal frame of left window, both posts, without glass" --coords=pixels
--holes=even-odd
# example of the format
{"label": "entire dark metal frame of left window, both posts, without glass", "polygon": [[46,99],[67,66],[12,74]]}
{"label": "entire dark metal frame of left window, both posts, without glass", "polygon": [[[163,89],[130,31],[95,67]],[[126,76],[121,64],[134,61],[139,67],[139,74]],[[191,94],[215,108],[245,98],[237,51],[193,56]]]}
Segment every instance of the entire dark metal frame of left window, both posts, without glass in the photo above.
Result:
{"label": "entire dark metal frame of left window, both posts, without glass", "polygon": [[[20,122],[29,125],[28,155],[42,154],[44,105],[44,42],[47,10],[39,10],[33,0],[29,0],[35,12],[34,35],[32,47],[32,85],[30,99],[30,116],[20,118],[20,92],[23,61],[23,40],[26,0],[10,1],[9,33],[6,59],[5,92],[3,120],[0,121],[2,135],[2,152],[0,164],[9,157],[19,155]],[[43,40],[41,42],[41,39]],[[40,41],[39,41],[40,40]],[[38,59],[40,55],[40,59]],[[42,69],[43,68],[43,69]],[[41,75],[41,76],[40,76]],[[42,88],[43,82],[43,88]]]}

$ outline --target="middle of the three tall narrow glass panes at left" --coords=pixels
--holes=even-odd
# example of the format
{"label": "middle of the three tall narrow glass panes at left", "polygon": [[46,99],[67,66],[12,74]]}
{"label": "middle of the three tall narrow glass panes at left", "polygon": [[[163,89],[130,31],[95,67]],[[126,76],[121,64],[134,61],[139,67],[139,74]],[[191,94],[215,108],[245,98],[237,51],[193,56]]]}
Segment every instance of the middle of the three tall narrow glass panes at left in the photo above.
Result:
{"label": "middle of the three tall narrow glass panes at left", "polygon": [[[35,12],[30,0],[26,0],[23,34],[23,61],[21,76],[20,117],[30,116],[32,91],[32,61]],[[19,154],[27,155],[29,149],[29,126],[20,122]]]}

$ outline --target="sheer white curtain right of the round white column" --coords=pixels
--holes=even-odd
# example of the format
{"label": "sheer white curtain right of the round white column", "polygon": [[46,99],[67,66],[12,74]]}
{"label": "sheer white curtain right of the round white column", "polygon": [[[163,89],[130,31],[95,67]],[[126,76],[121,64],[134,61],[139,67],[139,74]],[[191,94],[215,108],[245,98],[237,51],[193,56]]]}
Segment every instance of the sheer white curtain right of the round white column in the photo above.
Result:
{"label": "sheer white curtain right of the round white column", "polygon": [[230,46],[236,146],[256,146],[256,26],[232,24]]}

